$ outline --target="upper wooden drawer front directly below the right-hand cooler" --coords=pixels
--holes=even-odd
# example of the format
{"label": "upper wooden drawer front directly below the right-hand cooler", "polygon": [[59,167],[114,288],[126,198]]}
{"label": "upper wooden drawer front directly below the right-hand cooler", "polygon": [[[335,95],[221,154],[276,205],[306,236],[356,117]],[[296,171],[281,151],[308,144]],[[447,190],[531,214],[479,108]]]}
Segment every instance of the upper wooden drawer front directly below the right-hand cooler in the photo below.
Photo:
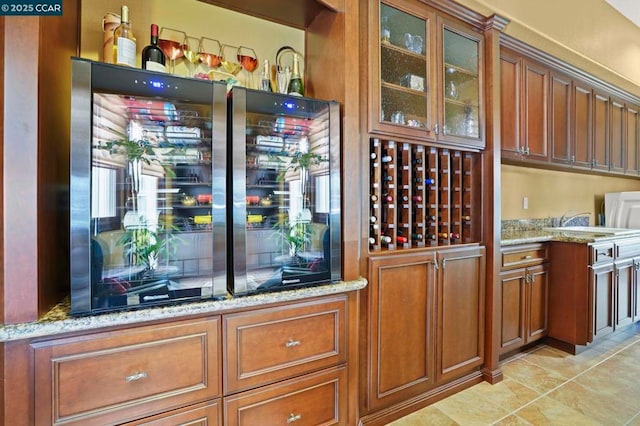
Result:
{"label": "upper wooden drawer front directly below the right-hand cooler", "polygon": [[344,295],[224,316],[225,394],[346,360]]}

